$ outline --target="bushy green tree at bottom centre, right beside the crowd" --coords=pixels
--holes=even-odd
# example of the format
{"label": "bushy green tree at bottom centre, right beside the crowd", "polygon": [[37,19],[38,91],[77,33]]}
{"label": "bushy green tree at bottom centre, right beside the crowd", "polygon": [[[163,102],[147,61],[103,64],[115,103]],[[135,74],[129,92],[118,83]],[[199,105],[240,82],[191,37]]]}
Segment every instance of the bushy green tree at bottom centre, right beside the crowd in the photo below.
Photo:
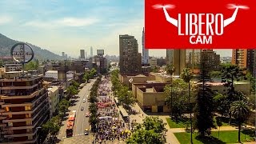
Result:
{"label": "bushy green tree at bottom centre, right beside the crowd", "polygon": [[134,126],[133,134],[126,140],[126,143],[148,143],[164,144],[166,143],[166,123],[158,117],[146,117],[142,124]]}

